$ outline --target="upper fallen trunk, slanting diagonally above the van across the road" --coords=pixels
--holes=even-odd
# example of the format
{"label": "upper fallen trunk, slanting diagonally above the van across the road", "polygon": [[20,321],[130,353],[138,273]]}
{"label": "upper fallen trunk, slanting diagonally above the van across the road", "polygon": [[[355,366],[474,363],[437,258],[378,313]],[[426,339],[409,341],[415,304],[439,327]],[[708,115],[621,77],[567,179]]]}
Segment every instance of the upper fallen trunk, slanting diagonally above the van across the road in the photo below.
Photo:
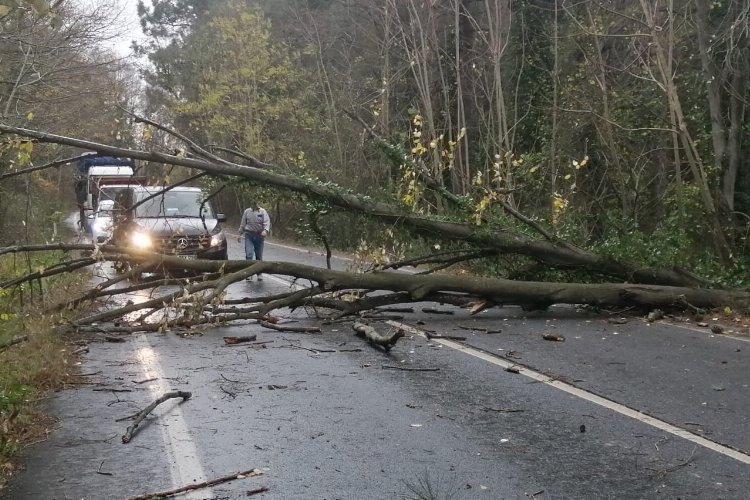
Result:
{"label": "upper fallen trunk, slanting diagonally above the van across the road", "polygon": [[[149,122],[153,124],[152,122]],[[101,154],[123,156],[137,160],[180,165],[201,170],[215,176],[235,176],[252,180],[258,184],[274,186],[304,194],[312,199],[323,201],[330,206],[353,211],[376,218],[384,223],[401,224],[414,231],[433,238],[464,241],[477,249],[494,255],[521,255],[534,259],[550,267],[564,269],[586,269],[610,278],[629,283],[659,284],[670,286],[708,286],[710,283],[682,269],[643,268],[631,262],[625,262],[597,255],[565,242],[550,241],[545,237],[531,238],[525,234],[510,231],[506,228],[477,226],[472,223],[444,221],[402,210],[386,203],[372,201],[367,196],[344,192],[310,179],[302,179],[276,173],[272,166],[252,157],[246,157],[246,165],[217,158],[199,146],[189,142],[179,134],[180,139],[188,141],[195,157],[186,158],[153,151],[118,148],[92,141],[85,141],[36,130],[13,127],[0,123],[0,132],[30,137],[40,142],[73,146],[93,150]],[[531,226],[533,228],[533,226]]]}

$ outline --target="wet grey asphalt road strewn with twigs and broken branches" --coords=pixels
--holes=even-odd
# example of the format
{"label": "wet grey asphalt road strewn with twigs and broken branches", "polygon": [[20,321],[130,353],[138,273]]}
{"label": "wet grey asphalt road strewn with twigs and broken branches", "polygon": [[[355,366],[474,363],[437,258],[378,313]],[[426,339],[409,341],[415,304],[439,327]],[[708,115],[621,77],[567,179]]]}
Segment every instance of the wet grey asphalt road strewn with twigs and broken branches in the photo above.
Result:
{"label": "wet grey asphalt road strewn with twigs and broken branches", "polygon": [[[325,263],[275,244],[266,259]],[[267,276],[230,294],[289,286]],[[47,402],[60,420],[26,450],[8,498],[131,498],[251,469],[180,498],[750,498],[747,336],[573,308],[390,316],[371,323],[407,331],[389,353],[344,322],[92,342],[90,384]],[[123,444],[126,417],[174,390],[192,397],[159,405]]]}

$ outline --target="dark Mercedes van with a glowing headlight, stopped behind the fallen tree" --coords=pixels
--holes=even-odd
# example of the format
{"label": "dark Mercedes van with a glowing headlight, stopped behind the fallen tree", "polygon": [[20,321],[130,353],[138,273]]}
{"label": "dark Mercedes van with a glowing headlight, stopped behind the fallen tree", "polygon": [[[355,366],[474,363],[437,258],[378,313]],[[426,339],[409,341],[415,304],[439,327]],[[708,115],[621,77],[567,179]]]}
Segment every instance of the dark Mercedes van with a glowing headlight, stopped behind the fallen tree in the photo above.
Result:
{"label": "dark Mercedes van with a glowing headlight, stopped behind the fallen tree", "polygon": [[200,188],[132,186],[118,193],[116,204],[131,208],[116,223],[115,245],[185,259],[227,259],[221,228],[226,216],[214,213]]}

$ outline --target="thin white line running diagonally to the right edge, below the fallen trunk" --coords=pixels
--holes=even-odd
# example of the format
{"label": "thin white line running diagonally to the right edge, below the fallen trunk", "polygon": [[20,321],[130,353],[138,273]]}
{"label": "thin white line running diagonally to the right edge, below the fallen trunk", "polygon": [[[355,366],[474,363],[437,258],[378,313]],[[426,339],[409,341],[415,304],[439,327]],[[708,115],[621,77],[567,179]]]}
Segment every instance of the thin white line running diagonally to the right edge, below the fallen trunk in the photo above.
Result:
{"label": "thin white line running diagonally to the right edge, below the fallen trunk", "polygon": [[[423,331],[417,328],[411,327],[409,325],[405,325],[397,321],[388,321],[388,324],[393,325],[396,328],[401,328],[402,330],[412,333],[414,335],[420,335],[422,337],[427,338],[427,335]],[[520,375],[528,377],[532,380],[549,385],[551,387],[554,387],[555,389],[559,389],[561,391],[567,392],[568,394],[584,399],[591,403],[597,404],[609,410],[615,411],[626,417],[633,418],[635,420],[643,422],[644,424],[650,425],[664,432],[668,432],[675,436],[681,437],[683,439],[690,441],[691,443],[695,443],[699,446],[703,446],[704,448],[720,453],[726,457],[733,458],[745,464],[750,464],[750,455],[747,455],[746,453],[742,453],[741,451],[737,451],[727,446],[724,446],[722,444],[708,440],[702,436],[693,434],[692,432],[686,431],[685,429],[681,429],[668,422],[664,422],[663,420],[659,420],[650,415],[646,415],[645,413],[641,413],[632,408],[628,408],[627,406],[621,405],[620,403],[616,403],[614,401],[603,398],[601,396],[597,396],[596,394],[593,394],[591,392],[585,391],[583,389],[579,389],[578,387],[575,387],[573,385],[566,384],[565,382],[552,379],[549,376],[544,375],[543,373],[539,373],[537,371],[531,370],[526,367],[518,366],[517,364],[511,361],[506,361],[502,358],[493,356],[492,354],[486,353],[479,349],[474,349],[473,347],[465,346],[463,344],[460,344],[452,340],[430,339],[430,342],[435,342],[437,344],[450,347],[451,349],[455,349],[457,351],[463,352],[470,356],[474,356],[475,358],[479,358],[483,361],[487,361],[503,369],[514,367],[518,369]]]}

